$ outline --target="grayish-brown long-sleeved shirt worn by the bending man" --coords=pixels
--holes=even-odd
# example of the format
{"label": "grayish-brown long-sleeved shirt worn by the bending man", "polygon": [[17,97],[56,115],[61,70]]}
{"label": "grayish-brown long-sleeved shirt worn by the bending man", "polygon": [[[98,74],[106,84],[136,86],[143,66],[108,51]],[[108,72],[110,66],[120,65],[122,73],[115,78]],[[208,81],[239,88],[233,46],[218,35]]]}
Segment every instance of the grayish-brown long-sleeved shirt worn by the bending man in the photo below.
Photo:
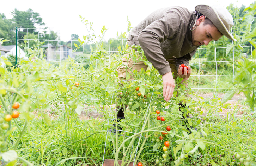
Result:
{"label": "grayish-brown long-sleeved shirt worn by the bending man", "polygon": [[[134,27],[129,34],[129,45],[140,45],[160,75],[171,71],[166,59],[176,57],[176,68],[188,66],[197,46],[192,45],[190,23],[195,12],[182,7],[159,9]],[[193,21],[193,22],[194,22]]]}

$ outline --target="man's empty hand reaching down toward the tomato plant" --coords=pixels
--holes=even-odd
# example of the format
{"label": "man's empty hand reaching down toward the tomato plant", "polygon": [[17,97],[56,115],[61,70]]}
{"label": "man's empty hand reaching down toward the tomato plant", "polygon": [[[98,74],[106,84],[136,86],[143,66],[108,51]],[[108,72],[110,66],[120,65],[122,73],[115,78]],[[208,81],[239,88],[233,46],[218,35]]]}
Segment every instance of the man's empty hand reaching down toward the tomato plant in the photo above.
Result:
{"label": "man's empty hand reaching down toward the tomato plant", "polygon": [[175,87],[175,83],[172,77],[172,72],[170,71],[168,73],[165,73],[162,76],[162,79],[164,84],[164,89],[163,89],[164,100],[168,102],[172,97],[174,87]]}

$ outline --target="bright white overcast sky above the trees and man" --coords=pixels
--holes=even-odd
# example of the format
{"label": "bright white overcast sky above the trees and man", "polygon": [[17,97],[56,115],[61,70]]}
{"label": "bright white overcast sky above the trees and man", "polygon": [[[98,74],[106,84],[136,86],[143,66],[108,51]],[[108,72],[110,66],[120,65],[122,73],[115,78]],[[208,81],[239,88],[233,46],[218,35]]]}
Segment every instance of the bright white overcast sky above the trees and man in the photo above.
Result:
{"label": "bright white overcast sky above the trees and man", "polygon": [[117,31],[119,33],[126,31],[127,16],[134,27],[147,15],[159,8],[182,6],[194,11],[194,7],[199,4],[218,4],[226,7],[233,3],[238,7],[242,4],[248,7],[253,2],[253,0],[2,0],[0,12],[11,19],[11,11],[14,8],[20,11],[31,8],[41,15],[46,26],[57,32],[63,41],[70,40],[71,34],[78,34],[81,39],[83,35],[88,34],[85,26],[81,23],[80,14],[89,22],[93,22],[93,29],[97,36],[100,34],[100,29],[105,25],[108,31],[104,39],[108,40],[115,38]]}

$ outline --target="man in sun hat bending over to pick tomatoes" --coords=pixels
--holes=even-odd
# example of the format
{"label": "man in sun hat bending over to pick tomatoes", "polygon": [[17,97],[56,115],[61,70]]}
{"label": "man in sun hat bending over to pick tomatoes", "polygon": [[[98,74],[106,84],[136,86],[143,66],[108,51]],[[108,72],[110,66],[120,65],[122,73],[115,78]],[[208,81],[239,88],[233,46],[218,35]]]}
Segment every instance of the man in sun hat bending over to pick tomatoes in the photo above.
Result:
{"label": "man in sun hat bending over to pick tomatoes", "polygon": [[[172,97],[179,76],[182,82],[191,74],[189,61],[201,45],[219,40],[223,35],[235,40],[229,34],[233,26],[232,15],[220,6],[197,5],[195,11],[183,7],[159,9],[147,16],[129,34],[128,44],[141,46],[152,65],[163,79],[163,96],[167,102]],[[130,61],[129,61],[130,63]],[[181,64],[188,66],[182,74]],[[133,69],[147,69],[144,63],[134,65]],[[174,72],[174,77],[172,75]],[[119,79],[125,79],[126,69],[118,69]],[[122,108],[118,111],[123,119]]]}

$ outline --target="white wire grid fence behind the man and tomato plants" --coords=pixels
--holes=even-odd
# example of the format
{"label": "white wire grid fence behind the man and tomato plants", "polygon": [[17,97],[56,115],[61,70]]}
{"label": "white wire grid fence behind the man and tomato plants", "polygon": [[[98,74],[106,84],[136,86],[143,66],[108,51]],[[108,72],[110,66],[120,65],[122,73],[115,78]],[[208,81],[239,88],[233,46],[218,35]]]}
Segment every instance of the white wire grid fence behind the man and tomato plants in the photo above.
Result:
{"label": "white wire grid fence behind the man and tomato plants", "polygon": [[[236,29],[238,29],[236,26],[242,24],[243,21],[244,20],[242,19],[234,20],[234,26],[231,29],[231,33],[233,35],[237,34],[241,36],[245,33],[235,32]],[[34,31],[34,34],[36,35],[31,35],[30,31]],[[18,52],[18,56],[20,58],[25,58],[25,41],[27,42],[26,45],[31,47],[35,43],[35,39],[37,39],[44,41],[44,45],[42,45],[41,48],[44,49],[45,58],[50,63],[62,64],[67,60],[68,55],[75,59],[78,64],[83,64],[85,66],[91,63],[90,55],[93,52],[90,51],[89,44],[93,44],[92,41],[87,45],[83,45],[83,47],[80,48],[77,52],[72,53],[74,49],[74,43],[79,44],[78,39],[72,39],[71,37],[71,40],[67,42],[62,41],[61,38],[52,40],[54,36],[51,34],[50,30],[47,29],[19,28],[17,36],[19,47],[21,47],[20,52]],[[97,40],[97,38],[95,40]],[[118,45],[111,45],[111,40],[112,39],[109,39],[107,42],[105,42],[106,50],[110,54],[118,53]],[[114,39],[114,41],[115,40],[117,41],[118,39]],[[123,40],[117,43],[120,45],[125,45]],[[190,76],[190,79],[192,80],[190,82],[190,87],[193,89],[195,94],[205,92],[206,90],[207,92],[215,94],[218,92],[225,92],[230,88],[235,89],[232,84],[233,78],[235,77],[236,63],[242,58],[253,60],[251,56],[253,46],[251,44],[244,46],[244,51],[241,51],[238,49],[238,47],[234,47],[228,55],[225,55],[227,44],[233,44],[233,41],[227,40],[226,37],[222,37],[219,41],[212,41],[208,46],[201,46],[197,49],[197,52],[189,64],[193,69],[193,72]],[[244,55],[245,57],[242,57],[241,55]],[[97,59],[95,64],[97,69]],[[230,101],[240,101],[240,99]]]}

